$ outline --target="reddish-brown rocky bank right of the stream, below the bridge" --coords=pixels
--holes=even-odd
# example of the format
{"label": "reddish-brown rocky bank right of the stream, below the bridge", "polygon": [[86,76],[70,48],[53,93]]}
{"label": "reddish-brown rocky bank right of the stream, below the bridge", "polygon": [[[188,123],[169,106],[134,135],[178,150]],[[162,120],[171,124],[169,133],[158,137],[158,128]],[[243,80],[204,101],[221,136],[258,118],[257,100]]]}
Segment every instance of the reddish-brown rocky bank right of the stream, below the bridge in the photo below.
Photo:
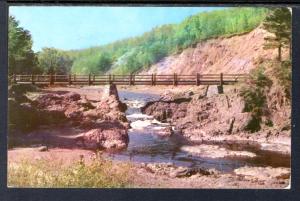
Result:
{"label": "reddish-brown rocky bank right of the stream, below the bridge", "polygon": [[[277,104],[277,109],[273,106],[269,116],[263,117],[261,129],[254,133],[247,130],[252,117],[251,113],[244,112],[240,87],[227,86],[224,90],[224,94],[207,94],[206,89],[167,93],[159,101],[148,103],[142,112],[170,122],[191,141],[252,141],[262,144],[265,149],[290,152],[290,105],[279,105],[281,96],[271,95],[276,90],[270,91],[273,102],[268,103]],[[267,124],[268,118],[273,120],[273,125]]]}

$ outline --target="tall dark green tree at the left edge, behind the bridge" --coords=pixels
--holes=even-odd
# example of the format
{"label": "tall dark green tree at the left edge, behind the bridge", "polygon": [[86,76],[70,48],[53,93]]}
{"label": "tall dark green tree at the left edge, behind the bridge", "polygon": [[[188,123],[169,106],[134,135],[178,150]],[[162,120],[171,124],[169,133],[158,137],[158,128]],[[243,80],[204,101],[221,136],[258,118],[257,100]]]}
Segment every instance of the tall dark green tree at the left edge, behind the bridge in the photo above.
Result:
{"label": "tall dark green tree at the left edge, behind the bridge", "polygon": [[32,51],[32,39],[29,31],[19,26],[13,17],[8,19],[8,72],[36,73],[36,55]]}

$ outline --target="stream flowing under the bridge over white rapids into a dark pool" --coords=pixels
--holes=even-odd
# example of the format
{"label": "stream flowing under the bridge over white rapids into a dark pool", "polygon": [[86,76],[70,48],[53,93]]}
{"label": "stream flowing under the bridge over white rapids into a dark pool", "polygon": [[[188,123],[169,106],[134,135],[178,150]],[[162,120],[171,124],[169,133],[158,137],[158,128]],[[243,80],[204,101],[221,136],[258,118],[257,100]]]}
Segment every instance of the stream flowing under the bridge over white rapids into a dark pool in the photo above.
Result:
{"label": "stream flowing under the bridge over white rapids into a dark pool", "polygon": [[[140,108],[149,101],[157,100],[159,95],[119,91],[120,100],[128,106],[126,116],[131,122],[129,130],[129,144],[126,150],[109,153],[114,160],[144,162],[144,163],[172,163],[177,166],[215,168],[222,172],[231,172],[242,166],[260,167],[290,167],[290,157],[281,153],[260,149],[254,144],[234,142],[187,142],[180,134],[174,133],[169,137],[159,133],[170,125],[161,123],[153,117],[142,114]],[[196,146],[200,144],[218,145],[233,151],[249,151],[255,157],[224,157],[208,158],[192,156],[182,151],[184,145]]]}

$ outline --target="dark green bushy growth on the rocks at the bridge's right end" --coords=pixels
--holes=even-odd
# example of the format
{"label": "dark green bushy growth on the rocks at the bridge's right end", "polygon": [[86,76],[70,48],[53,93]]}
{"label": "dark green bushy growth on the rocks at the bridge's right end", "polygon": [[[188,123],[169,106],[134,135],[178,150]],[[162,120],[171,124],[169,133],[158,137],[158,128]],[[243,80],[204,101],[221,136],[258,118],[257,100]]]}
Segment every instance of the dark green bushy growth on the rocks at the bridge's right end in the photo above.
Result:
{"label": "dark green bushy growth on the rocks at the bridge's right end", "polygon": [[262,116],[266,113],[266,93],[271,87],[272,81],[265,75],[265,69],[254,69],[249,78],[249,83],[241,89],[240,95],[245,101],[244,112],[251,113],[251,120],[246,130],[256,132],[260,130]]}

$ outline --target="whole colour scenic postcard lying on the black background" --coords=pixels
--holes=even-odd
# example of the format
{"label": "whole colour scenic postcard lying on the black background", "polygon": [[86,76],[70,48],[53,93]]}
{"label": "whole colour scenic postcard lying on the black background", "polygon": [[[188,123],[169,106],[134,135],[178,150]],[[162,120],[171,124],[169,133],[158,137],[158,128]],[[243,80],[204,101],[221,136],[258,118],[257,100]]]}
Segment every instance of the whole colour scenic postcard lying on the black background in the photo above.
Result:
{"label": "whole colour scenic postcard lying on the black background", "polygon": [[286,189],[289,7],[9,7],[7,186]]}

